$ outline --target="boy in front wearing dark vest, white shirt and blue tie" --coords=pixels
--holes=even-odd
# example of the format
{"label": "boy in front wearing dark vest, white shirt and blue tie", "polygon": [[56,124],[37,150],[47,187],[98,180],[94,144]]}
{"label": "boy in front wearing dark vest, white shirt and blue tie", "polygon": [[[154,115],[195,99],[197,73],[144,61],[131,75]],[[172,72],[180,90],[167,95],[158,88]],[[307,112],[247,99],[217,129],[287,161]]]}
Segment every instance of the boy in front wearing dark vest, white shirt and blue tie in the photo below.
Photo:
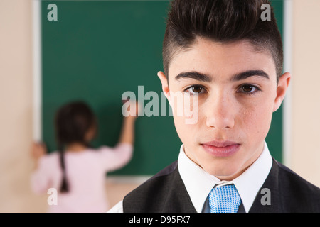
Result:
{"label": "boy in front wearing dark vest, white shirt and blue tie", "polygon": [[[174,111],[178,161],[110,212],[320,212],[320,189],[274,160],[265,138],[291,75],[267,0],[174,0],[162,89]],[[198,98],[198,121],[171,94]]]}

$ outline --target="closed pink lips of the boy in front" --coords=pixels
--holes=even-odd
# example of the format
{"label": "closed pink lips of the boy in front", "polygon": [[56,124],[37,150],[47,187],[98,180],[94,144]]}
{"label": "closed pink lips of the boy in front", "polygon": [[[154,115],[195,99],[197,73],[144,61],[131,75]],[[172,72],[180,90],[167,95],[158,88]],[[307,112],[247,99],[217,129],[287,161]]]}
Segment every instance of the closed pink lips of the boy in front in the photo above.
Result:
{"label": "closed pink lips of the boy in front", "polygon": [[215,157],[229,157],[235,154],[240,149],[240,143],[233,141],[210,141],[208,143],[201,143],[202,148],[206,153]]}

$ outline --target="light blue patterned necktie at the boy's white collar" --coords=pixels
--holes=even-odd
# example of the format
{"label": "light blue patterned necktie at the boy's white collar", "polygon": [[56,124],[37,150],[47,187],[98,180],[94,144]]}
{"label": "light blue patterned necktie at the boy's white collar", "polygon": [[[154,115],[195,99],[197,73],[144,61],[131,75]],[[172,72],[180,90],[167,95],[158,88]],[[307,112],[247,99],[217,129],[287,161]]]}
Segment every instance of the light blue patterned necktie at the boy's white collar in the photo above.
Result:
{"label": "light blue patterned necktie at the boy's white collar", "polygon": [[211,213],[237,213],[240,203],[234,184],[213,188],[209,194]]}

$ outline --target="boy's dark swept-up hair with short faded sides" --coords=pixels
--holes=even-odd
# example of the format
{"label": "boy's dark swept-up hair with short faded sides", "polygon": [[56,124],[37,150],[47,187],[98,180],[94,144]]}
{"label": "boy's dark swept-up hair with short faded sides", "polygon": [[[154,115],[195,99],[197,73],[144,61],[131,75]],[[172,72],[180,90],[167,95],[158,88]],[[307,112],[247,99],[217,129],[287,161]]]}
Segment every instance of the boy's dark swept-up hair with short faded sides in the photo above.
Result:
{"label": "boy's dark swept-up hair with short faded sides", "polygon": [[[262,4],[268,0],[173,0],[166,20],[163,43],[164,73],[178,52],[188,50],[196,38],[220,43],[248,40],[258,50],[269,50],[274,59],[277,79],[282,74],[283,50],[274,12],[262,21]],[[270,4],[271,6],[271,4]]]}

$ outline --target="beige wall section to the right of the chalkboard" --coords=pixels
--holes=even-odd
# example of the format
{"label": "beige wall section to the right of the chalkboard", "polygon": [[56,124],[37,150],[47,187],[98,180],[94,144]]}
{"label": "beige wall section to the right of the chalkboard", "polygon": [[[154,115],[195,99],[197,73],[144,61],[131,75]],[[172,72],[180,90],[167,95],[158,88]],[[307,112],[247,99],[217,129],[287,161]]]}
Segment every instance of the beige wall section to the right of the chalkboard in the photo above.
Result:
{"label": "beige wall section to the right of the chalkboard", "polygon": [[294,0],[292,170],[320,187],[320,1]]}

